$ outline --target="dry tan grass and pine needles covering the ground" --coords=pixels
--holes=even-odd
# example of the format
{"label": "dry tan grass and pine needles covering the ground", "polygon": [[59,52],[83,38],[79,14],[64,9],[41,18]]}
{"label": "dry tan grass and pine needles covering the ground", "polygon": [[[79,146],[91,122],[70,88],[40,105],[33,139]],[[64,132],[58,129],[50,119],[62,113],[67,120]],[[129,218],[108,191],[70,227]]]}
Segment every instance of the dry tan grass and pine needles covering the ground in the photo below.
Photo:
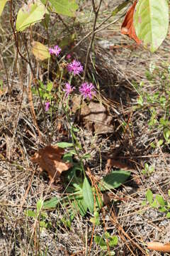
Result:
{"label": "dry tan grass and pine needles covering the ground", "polygon": [[[18,2],[18,6],[21,6],[21,2]],[[106,9],[106,4],[113,8],[112,1],[103,1],[101,10]],[[81,23],[74,26],[77,41],[83,36],[80,27],[86,35],[92,26],[90,1],[86,1],[85,8],[85,18],[80,17]],[[106,14],[101,11],[98,21]],[[3,15],[8,16],[8,9],[5,9]],[[109,22],[112,20],[114,17]],[[63,36],[67,35],[68,31],[64,30],[62,23],[60,27],[61,31],[64,31]],[[54,30],[55,26],[50,27],[49,33],[53,35]],[[38,97],[34,97],[36,119],[43,140],[38,136],[27,94],[30,69],[18,56],[15,70],[16,47],[10,24],[8,19],[1,23],[0,74],[6,92],[0,95],[0,255],[106,255],[106,251],[103,252],[101,247],[91,240],[91,235],[102,236],[106,231],[111,235],[118,235],[115,255],[160,256],[160,252],[148,251],[145,243],[150,240],[169,242],[170,222],[164,213],[159,213],[149,206],[142,206],[148,188],[167,199],[170,182],[169,147],[157,146],[153,149],[149,146],[154,139],[159,139],[161,132],[148,127],[149,107],[134,110],[137,105],[137,92],[133,86],[134,81],[140,83],[142,80],[145,83],[143,90],[152,93],[153,88],[145,77],[145,70],[151,61],[157,63],[160,69],[162,63],[169,63],[169,38],[157,53],[151,55],[142,48],[136,48],[125,36],[120,36],[119,30],[120,23],[113,24],[97,34],[95,50],[91,55],[91,60],[95,56],[95,68],[94,63],[89,63],[87,74],[88,78],[93,74],[100,85],[101,101],[110,107],[113,113],[115,130],[113,134],[94,136],[84,127],[80,127],[79,140],[84,144],[84,152],[91,151],[91,159],[86,163],[91,168],[94,180],[105,175],[106,160],[109,156],[132,166],[134,171],[131,179],[105,195],[110,203],[103,206],[100,212],[100,225],[94,226],[90,222],[90,213],[82,218],[72,208],[72,204],[66,207],[60,203],[55,210],[46,211],[49,228],[40,231],[39,221],[28,218],[26,210],[36,210],[36,203],[40,198],[62,198],[65,190],[52,190],[47,178],[38,175],[38,169],[31,163],[30,156],[48,143],[47,128],[50,130],[52,144],[68,141],[68,125],[59,107],[52,118],[46,115],[45,127],[40,101]],[[56,33],[60,34],[61,31]],[[46,36],[37,28],[33,36],[35,40],[46,40]],[[50,38],[50,42],[54,43],[55,38]],[[74,53],[82,63],[88,43],[89,39]],[[28,48],[30,49],[29,45]],[[21,50],[23,54],[26,53],[24,47],[21,47]],[[40,67],[33,56],[30,56],[36,72],[45,78],[45,67]],[[55,63],[50,63],[50,68],[55,68]],[[159,82],[155,82],[154,90],[159,90]],[[11,87],[11,93],[8,86]],[[57,124],[61,120],[64,120],[66,134],[58,133]],[[124,130],[123,122],[128,124]],[[154,166],[154,172],[149,176],[142,174],[145,162]],[[69,227],[64,220],[69,220],[70,209],[75,216]],[[109,253],[108,250],[108,255]]]}

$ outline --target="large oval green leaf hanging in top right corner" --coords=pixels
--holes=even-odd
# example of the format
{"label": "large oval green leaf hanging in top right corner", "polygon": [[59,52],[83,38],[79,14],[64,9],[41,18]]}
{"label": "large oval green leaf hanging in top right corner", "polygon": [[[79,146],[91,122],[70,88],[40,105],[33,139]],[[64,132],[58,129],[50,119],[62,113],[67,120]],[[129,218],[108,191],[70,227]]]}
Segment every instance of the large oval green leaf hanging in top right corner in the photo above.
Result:
{"label": "large oval green leaf hanging in top right corner", "polygon": [[134,26],[137,37],[153,53],[164,41],[169,28],[167,0],[139,0],[135,8]]}

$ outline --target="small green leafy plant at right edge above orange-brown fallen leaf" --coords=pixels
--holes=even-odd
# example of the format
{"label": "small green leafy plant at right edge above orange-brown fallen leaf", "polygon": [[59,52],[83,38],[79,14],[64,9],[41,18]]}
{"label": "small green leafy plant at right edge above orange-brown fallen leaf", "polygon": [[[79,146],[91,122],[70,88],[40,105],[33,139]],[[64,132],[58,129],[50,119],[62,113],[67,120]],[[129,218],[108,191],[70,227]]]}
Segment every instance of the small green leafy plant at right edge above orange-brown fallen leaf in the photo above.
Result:
{"label": "small green leafy plant at right edge above orange-brown fallen leaf", "polygon": [[[168,195],[170,198],[170,190],[168,191]],[[170,202],[164,200],[163,196],[158,194],[153,195],[152,191],[148,189],[146,193],[146,201],[144,201],[142,205],[145,206],[147,203],[149,203],[152,208],[159,210],[159,212],[166,213],[166,218],[170,218]]]}

